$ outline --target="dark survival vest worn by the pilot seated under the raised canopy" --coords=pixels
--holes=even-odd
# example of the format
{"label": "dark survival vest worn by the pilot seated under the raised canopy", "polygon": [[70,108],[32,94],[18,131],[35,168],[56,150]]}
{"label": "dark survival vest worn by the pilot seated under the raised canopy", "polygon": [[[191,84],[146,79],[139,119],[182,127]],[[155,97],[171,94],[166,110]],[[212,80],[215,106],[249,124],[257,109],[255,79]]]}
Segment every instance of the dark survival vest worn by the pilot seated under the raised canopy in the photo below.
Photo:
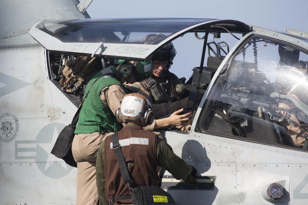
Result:
{"label": "dark survival vest worn by the pilot seated under the raised canopy", "polygon": [[166,79],[165,83],[158,83],[155,78],[151,75],[145,80],[150,87],[154,104],[175,102],[181,99],[186,87],[175,74],[168,72],[164,77],[160,77]]}

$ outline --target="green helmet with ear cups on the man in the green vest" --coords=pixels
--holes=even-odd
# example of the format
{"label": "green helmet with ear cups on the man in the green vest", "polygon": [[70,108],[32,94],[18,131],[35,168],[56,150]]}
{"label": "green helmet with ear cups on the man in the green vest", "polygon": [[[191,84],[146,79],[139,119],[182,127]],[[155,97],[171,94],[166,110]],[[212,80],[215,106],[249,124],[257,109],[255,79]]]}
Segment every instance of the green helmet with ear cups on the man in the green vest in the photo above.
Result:
{"label": "green helmet with ear cups on the man in the green vest", "polygon": [[134,76],[137,82],[148,79],[153,69],[152,59],[147,61],[119,60],[118,63],[120,75],[124,78]]}

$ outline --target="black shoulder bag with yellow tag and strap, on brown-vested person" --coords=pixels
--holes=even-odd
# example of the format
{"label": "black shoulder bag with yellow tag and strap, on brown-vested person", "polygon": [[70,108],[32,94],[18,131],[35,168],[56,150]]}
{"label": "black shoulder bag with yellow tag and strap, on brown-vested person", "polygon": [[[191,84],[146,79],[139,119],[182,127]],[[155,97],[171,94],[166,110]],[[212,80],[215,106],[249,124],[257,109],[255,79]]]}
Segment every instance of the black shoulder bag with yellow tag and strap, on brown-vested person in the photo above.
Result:
{"label": "black shoulder bag with yellow tag and strap, on brown-vested person", "polygon": [[158,186],[139,186],[134,189],[130,186],[132,183],[125,164],[124,156],[119,144],[118,133],[112,135],[112,148],[118,160],[121,174],[125,184],[128,184],[130,196],[120,196],[109,202],[112,205],[118,200],[132,199],[134,205],[175,205],[174,199],[167,192]]}

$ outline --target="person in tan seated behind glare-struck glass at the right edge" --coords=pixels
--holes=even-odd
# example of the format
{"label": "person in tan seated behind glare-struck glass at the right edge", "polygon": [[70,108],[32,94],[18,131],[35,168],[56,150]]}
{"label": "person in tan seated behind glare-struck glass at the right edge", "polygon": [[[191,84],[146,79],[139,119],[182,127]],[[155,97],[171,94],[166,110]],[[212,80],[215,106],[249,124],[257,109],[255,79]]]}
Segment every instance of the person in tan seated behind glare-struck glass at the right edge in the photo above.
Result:
{"label": "person in tan seated behind glare-struck glass at the right edge", "polygon": [[282,132],[287,139],[284,143],[298,148],[303,147],[306,138],[308,140],[307,68],[307,62],[298,61],[291,68],[280,70],[279,74],[287,88],[278,92],[277,124],[286,129]]}

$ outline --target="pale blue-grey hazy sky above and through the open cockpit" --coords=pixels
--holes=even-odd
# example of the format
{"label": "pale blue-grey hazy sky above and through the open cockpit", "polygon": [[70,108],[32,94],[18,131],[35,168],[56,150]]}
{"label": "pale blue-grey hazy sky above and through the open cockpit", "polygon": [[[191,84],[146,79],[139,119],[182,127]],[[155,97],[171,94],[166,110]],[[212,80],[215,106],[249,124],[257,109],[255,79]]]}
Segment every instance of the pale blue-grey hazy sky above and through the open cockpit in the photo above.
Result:
{"label": "pale blue-grey hazy sky above and through the open cockpit", "polygon": [[[87,12],[91,18],[233,19],[266,29],[308,32],[308,0],[93,0]],[[170,71],[188,80],[192,68],[200,66],[202,42],[178,39],[173,41],[177,54]],[[234,44],[226,42],[231,49]]]}

